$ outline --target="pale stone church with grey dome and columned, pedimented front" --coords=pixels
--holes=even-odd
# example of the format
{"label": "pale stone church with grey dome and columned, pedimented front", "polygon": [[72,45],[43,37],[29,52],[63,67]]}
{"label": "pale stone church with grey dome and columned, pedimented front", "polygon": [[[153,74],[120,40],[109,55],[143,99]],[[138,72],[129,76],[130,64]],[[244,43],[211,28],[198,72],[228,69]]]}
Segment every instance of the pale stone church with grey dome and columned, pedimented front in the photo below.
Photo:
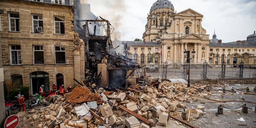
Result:
{"label": "pale stone church with grey dome and columned, pedimented front", "polygon": [[190,8],[176,13],[171,1],[157,0],[150,8],[142,38],[160,45],[160,64],[183,64],[185,49],[190,58],[194,49],[196,55],[190,63],[200,64],[208,61],[210,42],[202,18],[202,14]]}

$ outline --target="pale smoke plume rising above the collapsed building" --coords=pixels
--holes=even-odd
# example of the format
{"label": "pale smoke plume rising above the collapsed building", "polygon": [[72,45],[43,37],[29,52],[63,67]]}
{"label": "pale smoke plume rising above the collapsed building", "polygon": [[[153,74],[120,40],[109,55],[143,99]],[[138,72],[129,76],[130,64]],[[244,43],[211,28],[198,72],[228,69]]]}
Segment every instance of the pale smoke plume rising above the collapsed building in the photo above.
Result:
{"label": "pale smoke plume rising above the collapsed building", "polygon": [[81,3],[91,4],[92,13],[109,20],[110,24],[115,28],[111,35],[111,40],[116,41],[121,39],[121,24],[123,15],[126,12],[124,0],[81,0]]}

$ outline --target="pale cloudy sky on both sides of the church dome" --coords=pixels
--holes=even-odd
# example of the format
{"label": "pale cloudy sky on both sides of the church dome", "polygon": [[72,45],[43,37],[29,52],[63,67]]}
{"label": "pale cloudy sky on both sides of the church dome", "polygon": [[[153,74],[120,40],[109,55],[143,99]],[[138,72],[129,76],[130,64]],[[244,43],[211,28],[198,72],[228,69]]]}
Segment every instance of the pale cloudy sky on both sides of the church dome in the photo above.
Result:
{"label": "pale cloudy sky on both sides of the church dome", "polygon": [[[122,41],[142,39],[150,7],[157,0],[81,0],[91,4],[96,16],[110,20],[115,31],[111,37]],[[256,31],[256,0],[171,0],[175,11],[188,8],[204,15],[202,26],[212,39],[222,42],[245,40]],[[112,39],[113,39],[112,38]]]}

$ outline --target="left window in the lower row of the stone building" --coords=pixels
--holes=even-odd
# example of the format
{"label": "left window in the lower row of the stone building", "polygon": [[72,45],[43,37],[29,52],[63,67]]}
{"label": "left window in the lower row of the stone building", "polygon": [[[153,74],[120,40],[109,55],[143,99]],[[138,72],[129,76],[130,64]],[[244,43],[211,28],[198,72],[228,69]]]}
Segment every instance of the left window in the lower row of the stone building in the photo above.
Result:
{"label": "left window in the lower row of the stone building", "polygon": [[20,45],[11,45],[11,64],[21,64]]}

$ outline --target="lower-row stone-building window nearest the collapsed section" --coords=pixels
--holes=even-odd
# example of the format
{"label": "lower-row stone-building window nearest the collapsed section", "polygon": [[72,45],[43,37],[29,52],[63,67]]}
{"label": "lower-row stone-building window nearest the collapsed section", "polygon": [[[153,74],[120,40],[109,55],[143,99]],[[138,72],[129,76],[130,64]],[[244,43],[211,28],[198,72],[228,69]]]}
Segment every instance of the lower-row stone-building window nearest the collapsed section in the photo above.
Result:
{"label": "lower-row stone-building window nearest the collapsed section", "polygon": [[65,47],[55,46],[55,64],[65,64]]}

